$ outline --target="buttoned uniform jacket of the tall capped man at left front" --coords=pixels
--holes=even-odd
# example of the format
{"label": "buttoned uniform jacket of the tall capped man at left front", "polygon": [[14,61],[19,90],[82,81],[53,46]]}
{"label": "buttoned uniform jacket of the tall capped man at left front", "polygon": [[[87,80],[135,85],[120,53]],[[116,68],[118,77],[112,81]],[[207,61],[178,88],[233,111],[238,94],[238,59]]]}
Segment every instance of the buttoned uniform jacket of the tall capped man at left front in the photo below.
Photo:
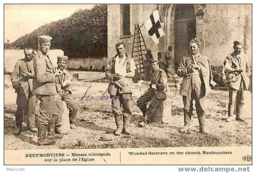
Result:
{"label": "buttoned uniform jacket of the tall capped man at left front", "polygon": [[34,67],[33,95],[56,95],[55,74],[49,55],[38,51],[34,56]]}

